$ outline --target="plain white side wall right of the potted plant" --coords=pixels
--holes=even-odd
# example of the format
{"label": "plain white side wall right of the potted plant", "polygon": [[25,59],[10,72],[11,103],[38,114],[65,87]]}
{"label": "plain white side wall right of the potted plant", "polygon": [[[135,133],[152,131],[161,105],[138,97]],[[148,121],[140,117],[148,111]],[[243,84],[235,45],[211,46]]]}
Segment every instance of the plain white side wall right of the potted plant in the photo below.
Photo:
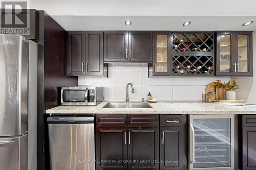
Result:
{"label": "plain white side wall right of the potted plant", "polygon": [[247,103],[256,104],[256,32],[253,32],[253,77],[236,79],[241,89],[237,90],[237,99],[244,99]]}

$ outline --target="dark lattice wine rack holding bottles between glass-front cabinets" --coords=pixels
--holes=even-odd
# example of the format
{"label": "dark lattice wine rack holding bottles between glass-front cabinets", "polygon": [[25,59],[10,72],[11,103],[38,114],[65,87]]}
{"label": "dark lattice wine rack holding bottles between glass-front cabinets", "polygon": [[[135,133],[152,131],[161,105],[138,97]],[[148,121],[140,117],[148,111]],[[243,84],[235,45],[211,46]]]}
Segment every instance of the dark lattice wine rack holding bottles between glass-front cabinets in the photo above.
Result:
{"label": "dark lattice wine rack holding bottles between glass-front cabinets", "polygon": [[172,73],[174,76],[214,74],[214,33],[172,34]]}

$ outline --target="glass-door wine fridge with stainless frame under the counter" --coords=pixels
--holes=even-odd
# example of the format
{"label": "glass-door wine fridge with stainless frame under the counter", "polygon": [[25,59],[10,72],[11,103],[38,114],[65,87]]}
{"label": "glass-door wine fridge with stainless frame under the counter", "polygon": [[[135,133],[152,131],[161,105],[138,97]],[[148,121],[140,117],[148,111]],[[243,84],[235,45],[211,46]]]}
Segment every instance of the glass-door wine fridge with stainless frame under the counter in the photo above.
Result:
{"label": "glass-door wine fridge with stainless frame under the counter", "polygon": [[190,115],[189,170],[234,169],[234,115]]}

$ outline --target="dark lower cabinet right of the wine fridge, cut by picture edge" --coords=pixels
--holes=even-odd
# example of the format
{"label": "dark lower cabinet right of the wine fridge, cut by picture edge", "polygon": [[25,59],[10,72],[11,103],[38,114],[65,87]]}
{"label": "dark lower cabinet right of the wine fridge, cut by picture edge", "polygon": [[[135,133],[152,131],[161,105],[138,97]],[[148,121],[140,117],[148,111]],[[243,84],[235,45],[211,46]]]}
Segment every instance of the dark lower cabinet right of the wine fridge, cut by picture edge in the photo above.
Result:
{"label": "dark lower cabinet right of the wine fridge, cut by picture edge", "polygon": [[243,115],[243,169],[256,169],[256,115]]}

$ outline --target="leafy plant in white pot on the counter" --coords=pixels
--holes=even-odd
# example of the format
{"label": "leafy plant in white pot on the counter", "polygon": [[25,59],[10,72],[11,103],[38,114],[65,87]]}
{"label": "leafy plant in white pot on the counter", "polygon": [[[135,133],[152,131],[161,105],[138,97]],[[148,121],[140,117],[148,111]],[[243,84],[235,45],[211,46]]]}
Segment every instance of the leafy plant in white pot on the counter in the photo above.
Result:
{"label": "leafy plant in white pot on the counter", "polygon": [[226,90],[225,96],[226,100],[236,100],[236,89],[239,89],[238,83],[236,80],[233,80],[232,82],[229,81],[227,83],[219,83],[216,82],[215,85],[219,85],[219,87]]}

